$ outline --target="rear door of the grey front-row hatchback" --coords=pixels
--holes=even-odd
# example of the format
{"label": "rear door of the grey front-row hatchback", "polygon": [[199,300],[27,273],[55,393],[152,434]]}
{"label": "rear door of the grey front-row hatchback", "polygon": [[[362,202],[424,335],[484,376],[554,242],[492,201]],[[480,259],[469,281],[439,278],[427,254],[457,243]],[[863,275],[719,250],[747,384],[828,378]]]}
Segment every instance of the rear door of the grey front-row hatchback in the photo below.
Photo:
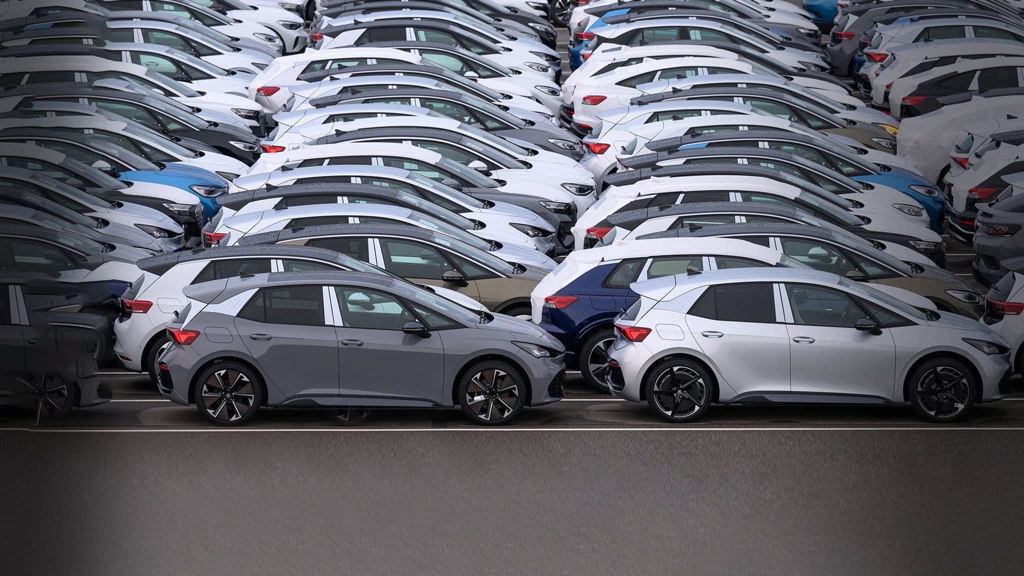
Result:
{"label": "rear door of the grey front-row hatchback", "polygon": [[268,286],[234,318],[243,345],[267,388],[284,401],[338,395],[338,337],[324,286]]}

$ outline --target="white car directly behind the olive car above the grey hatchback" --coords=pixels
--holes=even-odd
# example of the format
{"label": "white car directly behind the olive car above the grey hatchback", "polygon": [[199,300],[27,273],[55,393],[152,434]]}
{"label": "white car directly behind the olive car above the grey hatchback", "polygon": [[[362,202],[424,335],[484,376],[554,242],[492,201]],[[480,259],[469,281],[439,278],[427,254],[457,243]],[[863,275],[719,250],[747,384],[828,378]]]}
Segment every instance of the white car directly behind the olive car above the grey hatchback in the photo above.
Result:
{"label": "white car directly behind the olive car above the grey hatchback", "polygon": [[[450,213],[451,214],[451,213]],[[455,215],[453,215],[455,216]],[[461,218],[461,217],[460,217]],[[462,220],[466,220],[462,218]],[[234,246],[247,234],[272,232],[294,226],[315,226],[323,224],[407,224],[418,228],[427,228],[440,232],[482,250],[489,252],[506,262],[519,262],[552,270],[555,261],[538,251],[532,246],[498,245],[474,235],[473,224],[466,220],[463,228],[421,212],[398,206],[377,204],[317,204],[293,206],[282,209],[270,209],[263,212],[237,214],[225,217],[215,229],[220,236],[218,246]],[[501,248],[498,248],[501,246]]]}

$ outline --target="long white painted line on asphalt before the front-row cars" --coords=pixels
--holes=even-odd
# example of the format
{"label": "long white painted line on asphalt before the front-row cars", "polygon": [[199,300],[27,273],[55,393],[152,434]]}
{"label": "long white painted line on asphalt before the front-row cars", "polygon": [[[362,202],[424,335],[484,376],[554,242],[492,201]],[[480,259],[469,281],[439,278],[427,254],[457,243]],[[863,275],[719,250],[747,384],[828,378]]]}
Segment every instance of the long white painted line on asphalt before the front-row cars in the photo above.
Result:
{"label": "long white painted line on asphalt before the front-row cars", "polygon": [[916,427],[788,427],[788,428],[735,428],[735,427],[664,427],[664,428],[98,428],[98,429],[56,429],[56,428],[0,428],[0,432],[51,432],[51,433],[259,433],[259,432],[903,432],[903,431],[926,431],[926,432],[951,432],[951,431],[1024,431],[1024,427],[992,427],[992,428],[970,428],[970,427],[929,427],[922,425]]}

